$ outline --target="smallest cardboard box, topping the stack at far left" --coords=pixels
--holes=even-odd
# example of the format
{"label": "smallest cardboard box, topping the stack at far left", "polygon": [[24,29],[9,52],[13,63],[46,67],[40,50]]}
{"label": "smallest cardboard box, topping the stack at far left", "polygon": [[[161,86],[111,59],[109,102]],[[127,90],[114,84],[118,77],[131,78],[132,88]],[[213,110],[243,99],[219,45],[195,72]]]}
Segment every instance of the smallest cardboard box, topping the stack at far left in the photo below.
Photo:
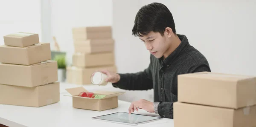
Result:
{"label": "smallest cardboard box, topping the stack at far left", "polygon": [[38,34],[17,32],[3,36],[4,44],[7,46],[26,47],[39,43]]}

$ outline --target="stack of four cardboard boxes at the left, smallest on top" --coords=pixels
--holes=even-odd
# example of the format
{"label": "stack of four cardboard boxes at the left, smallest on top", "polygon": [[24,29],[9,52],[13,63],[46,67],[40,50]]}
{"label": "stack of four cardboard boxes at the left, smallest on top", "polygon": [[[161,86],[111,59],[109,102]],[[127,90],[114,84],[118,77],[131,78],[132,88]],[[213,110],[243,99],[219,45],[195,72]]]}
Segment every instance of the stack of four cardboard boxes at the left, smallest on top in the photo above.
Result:
{"label": "stack of four cardboard boxes at the left, smallest on top", "polygon": [[38,34],[4,36],[0,46],[0,104],[41,107],[60,100],[57,62]]}

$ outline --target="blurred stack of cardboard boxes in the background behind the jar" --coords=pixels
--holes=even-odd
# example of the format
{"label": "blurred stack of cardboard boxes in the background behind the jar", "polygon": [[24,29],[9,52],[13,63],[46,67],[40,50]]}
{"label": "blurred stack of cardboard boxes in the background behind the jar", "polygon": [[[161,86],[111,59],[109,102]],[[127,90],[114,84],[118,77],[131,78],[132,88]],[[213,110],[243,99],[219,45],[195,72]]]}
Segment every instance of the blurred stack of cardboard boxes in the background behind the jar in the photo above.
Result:
{"label": "blurred stack of cardboard boxes in the background behind the jar", "polygon": [[75,53],[72,66],[67,67],[68,83],[91,84],[96,70],[116,72],[111,26],[73,28],[72,34]]}

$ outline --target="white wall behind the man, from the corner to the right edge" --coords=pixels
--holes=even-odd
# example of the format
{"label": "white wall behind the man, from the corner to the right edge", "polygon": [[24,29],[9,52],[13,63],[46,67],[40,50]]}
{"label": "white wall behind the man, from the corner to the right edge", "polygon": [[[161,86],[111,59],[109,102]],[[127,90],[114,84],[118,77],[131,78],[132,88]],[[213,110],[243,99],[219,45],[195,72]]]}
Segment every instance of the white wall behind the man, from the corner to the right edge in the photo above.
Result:
{"label": "white wall behind the man, from the corner to the right edge", "polygon": [[255,0],[113,0],[113,37],[120,72],[140,71],[149,63],[149,53],[131,36],[131,29],[138,6],[152,2],[169,8],[177,33],[186,35],[207,57],[212,72],[256,75]]}

